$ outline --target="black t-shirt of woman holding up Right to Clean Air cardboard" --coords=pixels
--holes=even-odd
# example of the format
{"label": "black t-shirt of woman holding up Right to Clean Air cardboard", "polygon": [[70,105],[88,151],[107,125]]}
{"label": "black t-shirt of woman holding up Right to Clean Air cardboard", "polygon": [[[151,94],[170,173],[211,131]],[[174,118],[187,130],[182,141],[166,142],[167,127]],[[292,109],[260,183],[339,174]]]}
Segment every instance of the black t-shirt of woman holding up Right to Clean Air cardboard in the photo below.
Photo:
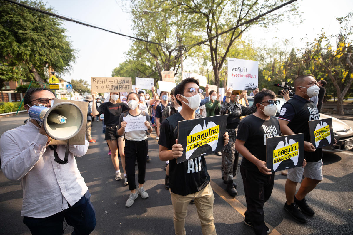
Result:
{"label": "black t-shirt of woman holding up Right to Clean Air cardboard", "polygon": [[105,102],[101,104],[97,111],[99,115],[104,113],[104,124],[119,125],[119,118],[122,112],[130,110],[129,106],[124,102],[113,104],[111,102]]}

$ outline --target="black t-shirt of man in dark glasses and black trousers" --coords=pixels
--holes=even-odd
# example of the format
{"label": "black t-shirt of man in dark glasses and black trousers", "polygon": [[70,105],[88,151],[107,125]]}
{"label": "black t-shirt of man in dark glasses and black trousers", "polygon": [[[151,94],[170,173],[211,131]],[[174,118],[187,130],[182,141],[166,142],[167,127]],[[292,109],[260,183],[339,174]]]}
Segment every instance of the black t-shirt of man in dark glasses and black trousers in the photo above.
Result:
{"label": "black t-shirt of man in dark glasses and black trousers", "polygon": [[[277,118],[271,116],[269,120],[264,120],[251,114],[239,123],[237,139],[245,141],[244,146],[257,159],[266,161],[266,138],[280,135]],[[257,166],[245,157],[241,160],[241,165],[250,171],[258,171]]]}

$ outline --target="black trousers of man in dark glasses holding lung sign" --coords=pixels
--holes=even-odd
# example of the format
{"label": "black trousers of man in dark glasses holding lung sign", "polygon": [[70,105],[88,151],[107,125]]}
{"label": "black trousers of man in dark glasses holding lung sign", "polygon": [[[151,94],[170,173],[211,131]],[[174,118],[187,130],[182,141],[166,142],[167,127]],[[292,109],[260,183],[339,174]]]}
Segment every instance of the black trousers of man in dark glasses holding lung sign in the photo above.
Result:
{"label": "black trousers of man in dark glasses holding lung sign", "polygon": [[263,207],[271,196],[275,173],[264,175],[258,170],[249,171],[241,165],[240,174],[241,178],[243,178],[247,205],[245,221],[252,223],[256,235],[267,235]]}

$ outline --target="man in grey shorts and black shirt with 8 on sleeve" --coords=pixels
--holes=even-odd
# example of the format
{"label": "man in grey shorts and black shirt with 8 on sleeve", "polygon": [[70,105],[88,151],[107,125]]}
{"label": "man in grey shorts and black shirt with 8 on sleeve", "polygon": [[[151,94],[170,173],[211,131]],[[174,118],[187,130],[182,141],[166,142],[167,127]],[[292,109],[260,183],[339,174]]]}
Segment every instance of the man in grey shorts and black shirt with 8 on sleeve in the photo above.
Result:
{"label": "man in grey shorts and black shirt with 8 on sleeve", "polygon": [[[304,168],[288,169],[285,185],[286,199],[284,209],[295,219],[305,223],[302,214],[315,215],[313,209],[305,202],[305,196],[322,180],[322,148],[315,149],[310,143],[308,121],[320,118],[317,107],[309,99],[318,95],[319,87],[312,75],[302,75],[294,80],[295,95],[282,106],[279,122],[283,135],[304,133]],[[304,175],[303,181],[301,181]],[[297,193],[296,186],[301,181]],[[301,209],[301,211],[298,209]]]}

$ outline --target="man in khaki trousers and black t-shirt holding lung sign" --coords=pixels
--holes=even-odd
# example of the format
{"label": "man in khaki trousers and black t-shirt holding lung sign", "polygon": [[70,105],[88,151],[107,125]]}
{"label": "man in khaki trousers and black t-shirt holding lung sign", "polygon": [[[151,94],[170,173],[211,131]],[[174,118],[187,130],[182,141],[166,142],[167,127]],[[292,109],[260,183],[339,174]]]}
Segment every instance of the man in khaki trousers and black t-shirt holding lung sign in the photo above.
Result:
{"label": "man in khaki trousers and black t-shirt holding lung sign", "polygon": [[[216,234],[213,218],[214,195],[204,156],[189,159],[177,164],[177,158],[183,153],[178,144],[178,122],[202,117],[195,113],[200,106],[202,90],[198,80],[187,78],[174,88],[174,97],[183,108],[162,122],[159,146],[159,158],[169,160],[169,191],[173,204],[175,234],[185,234],[187,206],[195,200],[197,213],[203,234]],[[229,141],[228,132],[223,135],[225,145]]]}

